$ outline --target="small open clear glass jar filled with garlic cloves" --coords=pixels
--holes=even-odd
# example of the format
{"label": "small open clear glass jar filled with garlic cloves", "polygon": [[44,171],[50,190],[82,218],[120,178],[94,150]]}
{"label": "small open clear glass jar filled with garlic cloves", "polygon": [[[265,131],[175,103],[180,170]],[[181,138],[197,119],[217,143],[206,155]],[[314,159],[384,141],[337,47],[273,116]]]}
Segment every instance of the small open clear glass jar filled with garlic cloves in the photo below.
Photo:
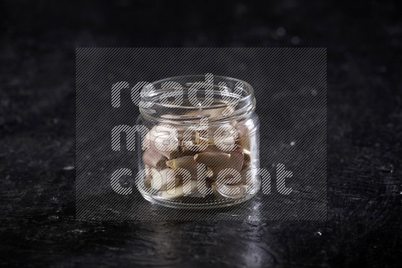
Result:
{"label": "small open clear glass jar filled with garlic cloves", "polygon": [[151,84],[141,91],[137,119],[149,129],[137,140],[146,150],[138,150],[142,196],[175,208],[216,208],[253,197],[261,181],[251,85],[212,74]]}

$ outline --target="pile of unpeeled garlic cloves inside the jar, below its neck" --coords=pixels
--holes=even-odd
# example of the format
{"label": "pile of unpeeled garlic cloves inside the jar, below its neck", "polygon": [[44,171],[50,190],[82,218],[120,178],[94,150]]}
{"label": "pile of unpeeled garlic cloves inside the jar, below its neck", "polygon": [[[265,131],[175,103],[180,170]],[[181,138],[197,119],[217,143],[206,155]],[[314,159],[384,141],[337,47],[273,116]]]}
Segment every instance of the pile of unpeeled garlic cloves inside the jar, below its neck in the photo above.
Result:
{"label": "pile of unpeeled garlic cloves inside the jar, below its neck", "polygon": [[[160,129],[157,132],[154,125],[150,130],[150,151],[144,151],[142,162],[146,168],[144,185],[154,189],[156,195],[163,199],[179,199],[181,197],[205,198],[212,193],[215,199],[239,199],[247,195],[250,187],[246,180],[246,172],[253,168],[250,153],[250,135],[247,129],[236,126],[239,132],[235,142],[235,150],[221,151],[214,144],[213,139],[206,139],[203,133],[194,132],[191,141],[183,141],[182,129],[177,127],[178,135],[170,140],[172,146],[169,151],[160,151]],[[159,125],[160,127],[160,125]],[[214,132],[214,126],[210,126],[210,133]],[[244,131],[246,130],[246,131]],[[148,139],[148,137],[143,138]],[[172,142],[173,141],[173,142]],[[189,144],[191,143],[191,144]],[[190,145],[192,147],[190,147]],[[199,147],[200,150],[189,150]],[[236,188],[235,194],[225,194],[217,186],[217,177],[224,169],[235,169],[241,174],[241,181],[230,183],[232,176],[227,176],[228,188]],[[162,186],[154,186],[152,178],[162,178]],[[149,175],[149,176],[148,176]],[[205,185],[204,185],[205,184]]]}

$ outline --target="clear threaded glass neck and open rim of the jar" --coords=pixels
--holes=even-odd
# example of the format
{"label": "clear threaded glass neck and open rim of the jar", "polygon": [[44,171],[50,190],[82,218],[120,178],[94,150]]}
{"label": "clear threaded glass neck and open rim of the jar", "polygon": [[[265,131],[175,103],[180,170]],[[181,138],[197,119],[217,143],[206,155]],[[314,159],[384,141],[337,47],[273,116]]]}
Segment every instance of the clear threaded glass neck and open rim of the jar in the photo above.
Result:
{"label": "clear threaded glass neck and open rim of the jar", "polygon": [[247,117],[255,110],[250,84],[228,77],[193,75],[153,82],[143,99],[153,103],[141,107],[144,118],[171,124],[197,124],[208,117],[210,124],[221,124]]}

